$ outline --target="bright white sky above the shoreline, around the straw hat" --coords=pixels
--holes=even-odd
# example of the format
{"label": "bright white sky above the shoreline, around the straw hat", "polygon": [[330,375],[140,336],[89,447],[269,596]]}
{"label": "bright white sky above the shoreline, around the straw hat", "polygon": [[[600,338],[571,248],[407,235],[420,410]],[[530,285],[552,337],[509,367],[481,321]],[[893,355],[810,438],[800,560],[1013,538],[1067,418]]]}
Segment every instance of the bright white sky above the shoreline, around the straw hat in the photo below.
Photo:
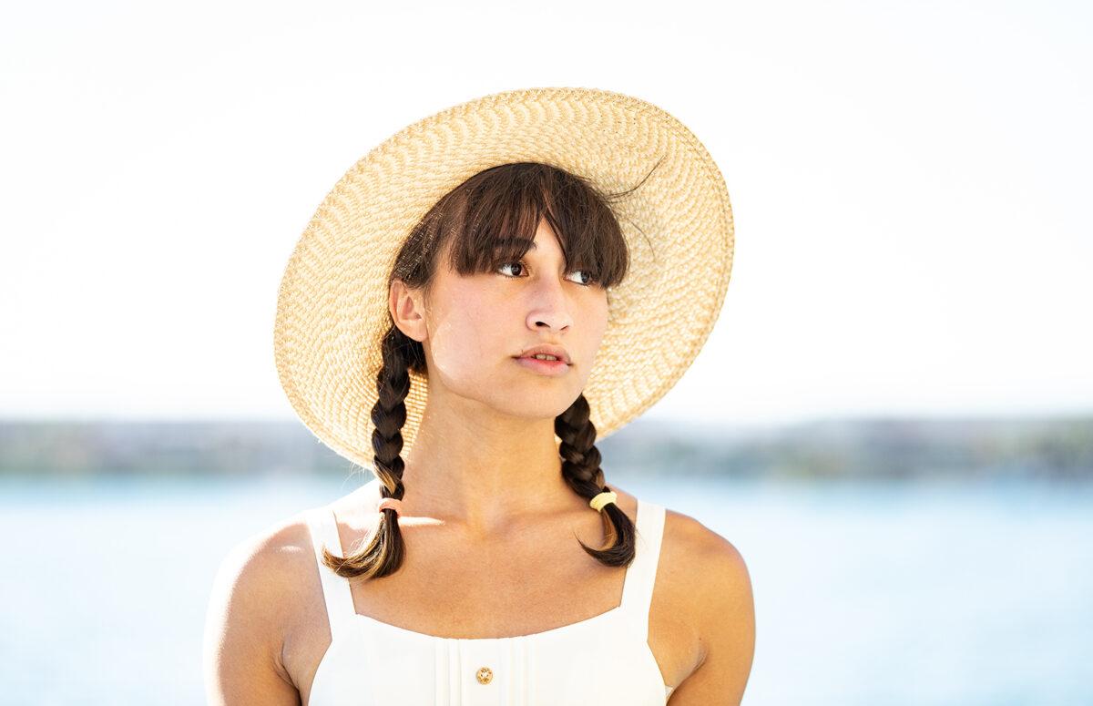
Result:
{"label": "bright white sky above the shoreline, around the straw hat", "polygon": [[327,191],[548,85],[665,108],[728,184],[725,306],[646,417],[1093,407],[1086,4],[371,4],[4,11],[0,416],[294,419],[277,289]]}

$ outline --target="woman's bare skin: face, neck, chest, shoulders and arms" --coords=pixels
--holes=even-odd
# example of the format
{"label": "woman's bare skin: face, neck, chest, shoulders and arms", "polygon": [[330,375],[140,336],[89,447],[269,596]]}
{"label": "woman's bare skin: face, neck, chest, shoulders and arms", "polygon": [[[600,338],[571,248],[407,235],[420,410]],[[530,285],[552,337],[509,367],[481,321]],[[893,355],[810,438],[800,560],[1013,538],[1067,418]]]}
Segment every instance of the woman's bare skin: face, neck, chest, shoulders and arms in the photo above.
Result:
{"label": "woman's bare skin: face, neck, chest, shoulders and arms", "polygon": [[[601,518],[565,485],[553,440],[554,416],[593,369],[607,292],[562,271],[545,223],[536,244],[522,268],[438,271],[428,302],[391,286],[396,325],[423,343],[430,397],[403,456],[398,527],[408,558],[393,575],[355,585],[357,612],[424,634],[485,637],[544,632],[619,604],[620,570],[577,550],[575,538],[598,543]],[[513,360],[539,343],[564,346],[573,367],[553,377]],[[610,485],[633,518],[637,498]],[[359,548],[375,528],[378,494],[377,479],[329,506],[344,546]],[[225,560],[207,626],[210,705],[310,703],[332,639],[315,562],[299,518]],[[658,565],[648,646],[665,684],[677,686],[671,704],[739,706],[755,649],[743,558],[697,520],[667,510]]]}

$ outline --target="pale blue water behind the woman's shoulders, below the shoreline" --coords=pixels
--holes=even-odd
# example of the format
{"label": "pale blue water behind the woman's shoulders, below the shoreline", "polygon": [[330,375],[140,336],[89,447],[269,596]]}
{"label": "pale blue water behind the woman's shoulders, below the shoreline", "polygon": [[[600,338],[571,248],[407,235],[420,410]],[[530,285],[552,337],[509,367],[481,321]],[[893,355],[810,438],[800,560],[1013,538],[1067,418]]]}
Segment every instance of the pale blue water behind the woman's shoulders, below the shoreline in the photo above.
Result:
{"label": "pale blue water behind the woman's shoulders, below the shoreline", "polygon": [[[1093,704],[1093,487],[609,480],[744,556],[744,704]],[[0,482],[0,702],[204,704],[222,556],[360,482]]]}

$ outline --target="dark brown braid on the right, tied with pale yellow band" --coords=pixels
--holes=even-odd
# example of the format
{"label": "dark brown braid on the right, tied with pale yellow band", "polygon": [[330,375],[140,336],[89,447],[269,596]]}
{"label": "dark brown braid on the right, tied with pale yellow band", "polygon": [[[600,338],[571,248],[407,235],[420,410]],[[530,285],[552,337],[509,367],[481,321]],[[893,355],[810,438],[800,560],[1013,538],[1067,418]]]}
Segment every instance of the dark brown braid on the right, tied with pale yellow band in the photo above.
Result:
{"label": "dark brown braid on the right, tied with pale yellow band", "polygon": [[[596,425],[588,416],[588,400],[581,395],[569,409],[554,417],[554,433],[562,439],[562,478],[577,495],[591,501],[611,489],[603,484],[600,451],[596,448]],[[580,543],[581,549],[608,566],[630,566],[634,560],[634,522],[614,503],[600,510],[603,516],[604,543],[598,550]]]}

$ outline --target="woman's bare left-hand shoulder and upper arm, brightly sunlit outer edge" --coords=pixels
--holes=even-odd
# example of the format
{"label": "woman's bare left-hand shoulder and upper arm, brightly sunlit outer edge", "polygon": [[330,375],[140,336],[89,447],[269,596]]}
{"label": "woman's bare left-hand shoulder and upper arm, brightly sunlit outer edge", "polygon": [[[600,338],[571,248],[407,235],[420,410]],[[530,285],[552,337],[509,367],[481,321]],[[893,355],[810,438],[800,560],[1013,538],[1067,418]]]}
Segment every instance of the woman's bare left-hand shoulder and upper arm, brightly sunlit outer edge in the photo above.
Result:
{"label": "woman's bare left-hand shoulder and upper arm, brightly sunlit outer edge", "polygon": [[317,585],[303,513],[232,546],[216,570],[205,615],[202,669],[209,704],[299,703],[283,652],[301,620],[298,608]]}

